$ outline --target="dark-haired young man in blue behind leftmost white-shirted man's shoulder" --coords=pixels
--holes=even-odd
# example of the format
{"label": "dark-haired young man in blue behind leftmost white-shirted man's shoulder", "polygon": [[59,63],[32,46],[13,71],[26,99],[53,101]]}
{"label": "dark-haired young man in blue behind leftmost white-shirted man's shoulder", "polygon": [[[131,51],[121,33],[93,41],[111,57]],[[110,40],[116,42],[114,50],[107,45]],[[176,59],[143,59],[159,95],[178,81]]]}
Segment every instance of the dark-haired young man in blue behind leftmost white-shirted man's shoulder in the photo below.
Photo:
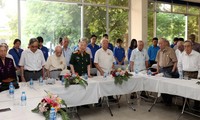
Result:
{"label": "dark-haired young man in blue behind leftmost white-shirted man's shoulder", "polygon": [[44,55],[44,59],[45,61],[47,61],[47,58],[49,56],[49,49],[45,46],[43,46],[43,38],[41,36],[37,37],[37,40],[39,42],[39,49],[43,52],[43,55]]}

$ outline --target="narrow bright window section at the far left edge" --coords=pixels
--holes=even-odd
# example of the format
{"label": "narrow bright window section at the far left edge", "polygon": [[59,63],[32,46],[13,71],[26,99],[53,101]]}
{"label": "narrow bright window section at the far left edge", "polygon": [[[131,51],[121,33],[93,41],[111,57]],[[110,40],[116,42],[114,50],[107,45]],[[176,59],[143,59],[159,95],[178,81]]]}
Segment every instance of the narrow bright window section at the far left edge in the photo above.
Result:
{"label": "narrow bright window section at the far left edge", "polygon": [[0,15],[0,40],[11,47],[18,38],[17,0],[1,0]]}

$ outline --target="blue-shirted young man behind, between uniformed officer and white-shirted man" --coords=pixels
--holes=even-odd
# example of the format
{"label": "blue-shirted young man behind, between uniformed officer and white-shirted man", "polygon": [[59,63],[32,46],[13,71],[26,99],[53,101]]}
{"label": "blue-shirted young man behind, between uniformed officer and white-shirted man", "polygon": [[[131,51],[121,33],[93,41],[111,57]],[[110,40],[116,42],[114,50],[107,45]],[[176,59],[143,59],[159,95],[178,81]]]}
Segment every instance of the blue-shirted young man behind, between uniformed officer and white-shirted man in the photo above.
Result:
{"label": "blue-shirted young man behind, between uniformed officer and white-shirted man", "polygon": [[95,56],[96,51],[99,49],[99,46],[96,44],[96,40],[97,40],[97,36],[92,35],[90,38],[90,43],[88,44],[88,47],[90,48],[92,52],[92,68],[95,68],[94,56]]}

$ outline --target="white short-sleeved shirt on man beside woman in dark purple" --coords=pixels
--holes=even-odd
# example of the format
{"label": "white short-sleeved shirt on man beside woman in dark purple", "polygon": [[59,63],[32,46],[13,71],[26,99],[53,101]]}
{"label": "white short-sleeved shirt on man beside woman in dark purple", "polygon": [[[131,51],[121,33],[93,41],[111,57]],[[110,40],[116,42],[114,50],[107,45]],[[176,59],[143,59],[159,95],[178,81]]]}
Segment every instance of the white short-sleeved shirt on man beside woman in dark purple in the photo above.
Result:
{"label": "white short-sleeved shirt on man beside woman in dark purple", "polygon": [[30,49],[22,52],[19,66],[24,66],[24,70],[39,71],[45,65],[44,55],[41,50],[37,49],[33,53]]}

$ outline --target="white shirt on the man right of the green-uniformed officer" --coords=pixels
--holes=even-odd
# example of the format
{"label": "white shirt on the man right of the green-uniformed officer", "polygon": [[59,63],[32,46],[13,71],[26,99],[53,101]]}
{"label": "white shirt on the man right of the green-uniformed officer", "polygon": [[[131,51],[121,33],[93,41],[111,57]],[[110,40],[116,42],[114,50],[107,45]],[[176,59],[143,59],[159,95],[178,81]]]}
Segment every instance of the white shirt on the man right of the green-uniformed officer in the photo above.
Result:
{"label": "white shirt on the man right of the green-uniformed officer", "polygon": [[[113,56],[113,52],[110,49],[105,51],[103,48],[100,48],[95,53],[94,63],[98,63],[104,72],[110,72],[114,62],[115,58]],[[97,72],[97,75],[100,75],[99,71]]]}

